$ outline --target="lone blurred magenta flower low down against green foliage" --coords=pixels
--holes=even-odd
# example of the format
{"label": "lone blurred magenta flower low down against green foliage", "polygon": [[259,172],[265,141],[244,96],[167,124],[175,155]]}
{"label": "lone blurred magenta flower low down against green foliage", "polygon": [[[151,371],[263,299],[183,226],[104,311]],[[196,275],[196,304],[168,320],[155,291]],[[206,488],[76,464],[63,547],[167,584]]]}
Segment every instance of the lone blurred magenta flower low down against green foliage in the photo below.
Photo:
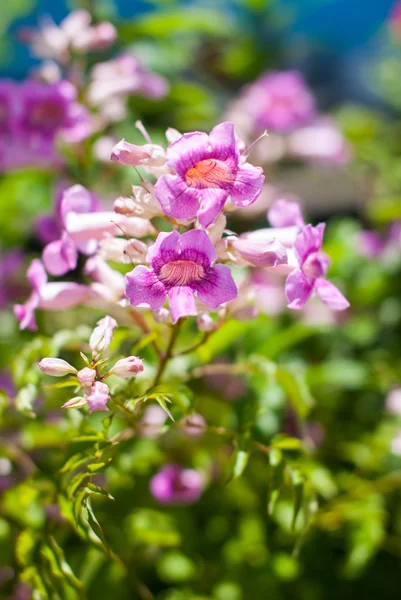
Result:
{"label": "lone blurred magenta flower low down against green foliage", "polygon": [[204,478],[194,469],[164,466],[150,481],[150,491],[161,504],[193,504],[202,494]]}

